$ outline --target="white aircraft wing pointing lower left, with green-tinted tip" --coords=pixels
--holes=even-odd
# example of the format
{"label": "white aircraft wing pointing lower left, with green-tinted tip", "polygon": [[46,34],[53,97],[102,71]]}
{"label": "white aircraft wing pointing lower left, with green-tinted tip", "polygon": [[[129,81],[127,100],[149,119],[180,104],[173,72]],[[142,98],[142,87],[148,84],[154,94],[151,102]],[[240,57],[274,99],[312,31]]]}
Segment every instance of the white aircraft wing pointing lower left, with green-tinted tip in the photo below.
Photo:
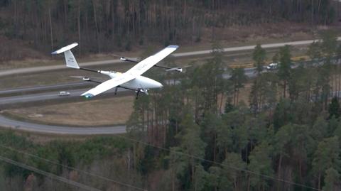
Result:
{"label": "white aircraft wing pointing lower left, with green-tinted tip", "polygon": [[114,77],[110,80],[103,82],[102,84],[97,85],[97,87],[94,87],[90,89],[89,91],[83,93],[82,96],[85,96],[86,98],[94,97],[95,95],[105,92],[114,87],[117,87],[120,84],[129,82],[130,80],[133,80],[135,77],[136,76],[134,75],[129,75],[129,74],[124,73],[122,75],[119,75],[118,77]]}

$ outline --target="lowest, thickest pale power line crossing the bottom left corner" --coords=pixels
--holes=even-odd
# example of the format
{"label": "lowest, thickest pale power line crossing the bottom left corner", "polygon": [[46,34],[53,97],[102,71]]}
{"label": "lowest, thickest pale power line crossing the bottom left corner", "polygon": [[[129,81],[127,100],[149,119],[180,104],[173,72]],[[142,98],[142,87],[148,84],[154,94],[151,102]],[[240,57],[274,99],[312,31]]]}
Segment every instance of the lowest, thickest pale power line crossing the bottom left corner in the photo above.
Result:
{"label": "lowest, thickest pale power line crossing the bottom left corner", "polygon": [[73,180],[70,180],[70,179],[67,179],[67,178],[63,178],[61,176],[58,176],[58,175],[55,175],[55,174],[52,174],[52,173],[45,172],[45,171],[40,170],[38,168],[34,168],[34,167],[32,167],[30,165],[26,165],[24,163],[19,163],[16,160],[11,160],[10,158],[6,158],[6,157],[1,156],[1,155],[0,155],[0,160],[3,160],[6,163],[11,163],[12,165],[17,165],[17,166],[19,166],[21,168],[26,168],[27,170],[31,170],[31,171],[33,171],[35,173],[40,174],[40,175],[45,175],[48,178],[51,178],[51,179],[54,179],[54,180],[59,180],[60,182],[65,182],[65,183],[67,183],[69,185],[73,185],[75,187],[80,187],[80,188],[82,188],[84,190],[101,191],[101,190],[98,190],[97,188],[90,187],[88,185],[83,185],[80,182],[75,182]]}

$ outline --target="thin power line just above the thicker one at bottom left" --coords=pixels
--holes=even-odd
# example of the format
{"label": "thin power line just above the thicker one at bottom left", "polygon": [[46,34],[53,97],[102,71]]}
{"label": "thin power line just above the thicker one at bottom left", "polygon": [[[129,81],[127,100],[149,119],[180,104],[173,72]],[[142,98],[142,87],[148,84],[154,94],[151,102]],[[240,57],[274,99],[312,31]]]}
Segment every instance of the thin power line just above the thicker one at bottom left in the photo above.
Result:
{"label": "thin power line just above the thicker one at bottom left", "polygon": [[22,154],[24,154],[24,155],[29,155],[29,156],[31,156],[31,157],[33,157],[33,158],[38,158],[38,159],[40,159],[40,160],[44,160],[45,162],[52,163],[52,164],[54,164],[54,165],[60,165],[60,166],[62,166],[63,168],[68,168],[68,169],[75,170],[75,171],[80,172],[80,173],[84,173],[84,174],[86,174],[86,175],[92,175],[92,176],[94,176],[94,177],[101,178],[101,179],[103,179],[103,180],[107,180],[107,181],[109,181],[109,182],[114,182],[114,183],[117,183],[117,184],[119,184],[119,185],[124,185],[124,186],[126,186],[126,187],[131,187],[131,188],[134,188],[135,190],[143,190],[143,191],[146,191],[145,189],[143,189],[143,188],[141,188],[141,187],[136,187],[136,186],[134,186],[134,185],[129,185],[129,184],[124,183],[124,182],[119,182],[119,181],[117,181],[117,180],[112,180],[112,179],[106,178],[106,177],[104,177],[104,176],[102,176],[102,175],[96,175],[96,174],[94,174],[94,173],[89,173],[89,172],[87,172],[87,171],[85,171],[85,170],[79,170],[79,169],[77,169],[77,168],[73,168],[73,167],[70,167],[70,166],[68,166],[68,165],[63,165],[63,164],[60,164],[60,163],[56,163],[56,162],[54,162],[54,161],[52,161],[52,160],[48,160],[48,159],[46,159],[46,158],[41,158],[41,157],[39,157],[38,155],[33,155],[33,154],[31,154],[31,153],[26,153],[26,152],[24,152],[24,151],[19,151],[19,150],[17,150],[17,149],[11,148],[11,147],[9,147],[9,146],[4,146],[4,145],[1,145],[1,144],[0,144],[0,147],[2,147],[2,148],[7,148],[7,149],[9,149],[9,150],[11,150],[11,151],[16,151],[16,152],[22,153]]}

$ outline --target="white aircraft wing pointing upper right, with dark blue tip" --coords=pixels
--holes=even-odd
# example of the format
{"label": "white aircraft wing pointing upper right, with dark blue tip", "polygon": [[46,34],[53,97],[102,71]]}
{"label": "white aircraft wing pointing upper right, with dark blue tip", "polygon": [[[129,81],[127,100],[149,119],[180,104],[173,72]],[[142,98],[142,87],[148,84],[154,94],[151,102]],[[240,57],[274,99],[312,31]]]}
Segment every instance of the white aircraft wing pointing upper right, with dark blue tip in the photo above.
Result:
{"label": "white aircraft wing pointing upper right, with dark blue tip", "polygon": [[151,67],[156,65],[161,60],[163,60],[163,58],[166,58],[166,56],[173,53],[178,47],[179,47],[178,45],[168,45],[168,47],[164,48],[155,55],[151,55],[150,57],[139,62],[134,67],[131,67],[131,69],[126,71],[125,74],[129,74],[132,76],[142,75],[144,72],[149,70]]}

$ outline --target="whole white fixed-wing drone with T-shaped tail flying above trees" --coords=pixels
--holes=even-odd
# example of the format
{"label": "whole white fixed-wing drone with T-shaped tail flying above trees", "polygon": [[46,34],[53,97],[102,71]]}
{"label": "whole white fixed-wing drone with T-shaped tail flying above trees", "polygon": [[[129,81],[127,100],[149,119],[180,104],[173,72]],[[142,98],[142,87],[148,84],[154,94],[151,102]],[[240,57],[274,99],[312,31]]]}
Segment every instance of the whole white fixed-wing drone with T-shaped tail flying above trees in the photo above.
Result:
{"label": "whole white fixed-wing drone with T-shaped tail flying above trees", "polygon": [[98,72],[103,75],[108,75],[111,78],[110,80],[107,80],[104,82],[97,82],[95,80],[90,80],[89,77],[82,77],[83,80],[85,81],[99,83],[97,87],[94,87],[90,89],[89,91],[82,94],[82,96],[86,98],[94,97],[112,88],[115,88],[115,94],[117,94],[117,89],[121,87],[124,89],[134,90],[136,92],[136,99],[137,99],[137,97],[139,97],[139,92],[142,92],[148,95],[148,89],[163,87],[163,85],[160,82],[156,82],[155,80],[152,80],[148,77],[141,76],[142,74],[144,74],[144,72],[149,70],[151,67],[162,67],[162,68],[167,69],[166,71],[178,71],[178,72],[183,71],[183,68],[181,67],[170,68],[170,67],[156,65],[158,62],[163,60],[163,58],[166,58],[166,56],[173,53],[178,48],[178,45],[168,45],[168,47],[164,48],[163,50],[161,50],[160,52],[154,55],[151,55],[150,57],[142,60],[141,62],[137,62],[135,60],[129,60],[127,58],[121,58],[122,61],[137,63],[134,67],[131,67],[130,70],[124,73],[114,72],[114,71],[104,71],[104,70],[92,70],[92,69],[80,67],[77,64],[75,56],[72,54],[70,50],[72,48],[75,48],[75,46],[77,45],[78,43],[72,43],[71,45],[67,45],[63,48],[60,48],[59,50],[56,50],[52,54],[55,55],[55,54],[64,53],[67,67],[72,67],[72,68],[80,69],[80,70],[87,70],[90,72]]}

